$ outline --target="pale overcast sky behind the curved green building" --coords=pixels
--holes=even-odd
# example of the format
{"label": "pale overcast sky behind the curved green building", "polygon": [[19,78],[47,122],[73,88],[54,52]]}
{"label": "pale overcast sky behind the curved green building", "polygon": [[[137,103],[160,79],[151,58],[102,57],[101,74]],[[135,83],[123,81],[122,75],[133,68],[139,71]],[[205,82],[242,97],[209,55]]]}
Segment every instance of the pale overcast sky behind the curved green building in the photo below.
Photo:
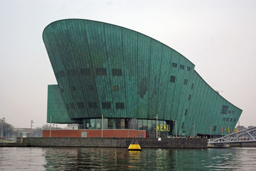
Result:
{"label": "pale overcast sky behind the curved green building", "polygon": [[[256,126],[256,1],[6,0],[0,6],[0,118],[15,128],[46,124],[47,85],[56,84],[42,40],[61,19],[107,22],[177,50]],[[59,125],[58,125],[59,126]]]}

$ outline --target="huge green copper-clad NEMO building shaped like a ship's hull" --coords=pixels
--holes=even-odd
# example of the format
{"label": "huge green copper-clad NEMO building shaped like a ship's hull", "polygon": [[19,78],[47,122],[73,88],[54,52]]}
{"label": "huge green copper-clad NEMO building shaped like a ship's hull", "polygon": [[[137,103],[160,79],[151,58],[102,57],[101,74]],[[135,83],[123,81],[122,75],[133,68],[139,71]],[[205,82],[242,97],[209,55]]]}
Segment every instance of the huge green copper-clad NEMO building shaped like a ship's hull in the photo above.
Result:
{"label": "huge green copper-clad NEMO building shaped like a ship's hull", "polygon": [[[58,85],[48,85],[47,122],[83,129],[221,135],[242,110],[214,91],[179,52],[113,24],[67,19],[43,33]],[[169,126],[169,127],[168,127]]]}

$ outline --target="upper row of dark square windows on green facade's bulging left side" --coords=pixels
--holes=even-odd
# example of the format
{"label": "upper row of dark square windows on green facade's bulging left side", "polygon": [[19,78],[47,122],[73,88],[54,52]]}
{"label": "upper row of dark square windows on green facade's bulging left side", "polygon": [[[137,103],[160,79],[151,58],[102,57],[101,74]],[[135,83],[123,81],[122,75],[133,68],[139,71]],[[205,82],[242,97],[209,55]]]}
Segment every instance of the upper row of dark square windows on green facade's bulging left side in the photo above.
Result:
{"label": "upper row of dark square windows on green facade's bulging left side", "polygon": [[[70,69],[67,70],[67,73],[69,76],[76,76],[77,73],[80,72],[81,75],[92,75],[90,68],[81,68],[79,71],[77,71],[76,69]],[[96,74],[97,75],[107,75],[107,70],[106,68],[96,68]],[[55,73],[56,78],[61,78],[61,77],[65,77],[65,71],[58,71]],[[112,75],[113,76],[122,76],[122,70],[121,69],[112,69]]]}

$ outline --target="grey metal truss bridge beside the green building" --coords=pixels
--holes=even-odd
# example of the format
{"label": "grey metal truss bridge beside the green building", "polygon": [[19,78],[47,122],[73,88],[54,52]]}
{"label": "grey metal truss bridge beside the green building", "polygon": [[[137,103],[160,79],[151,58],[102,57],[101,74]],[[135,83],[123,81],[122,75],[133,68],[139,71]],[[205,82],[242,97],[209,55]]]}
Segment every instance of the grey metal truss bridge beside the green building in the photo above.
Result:
{"label": "grey metal truss bridge beside the green building", "polygon": [[246,142],[256,142],[256,126],[216,138],[208,142],[208,144],[232,144]]}

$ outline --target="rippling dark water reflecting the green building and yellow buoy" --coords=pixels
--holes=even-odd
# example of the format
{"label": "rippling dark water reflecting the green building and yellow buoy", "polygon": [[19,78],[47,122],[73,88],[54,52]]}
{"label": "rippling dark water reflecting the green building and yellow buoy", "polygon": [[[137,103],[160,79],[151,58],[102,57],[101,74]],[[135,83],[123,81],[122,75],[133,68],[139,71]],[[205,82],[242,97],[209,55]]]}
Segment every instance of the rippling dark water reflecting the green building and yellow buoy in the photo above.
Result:
{"label": "rippling dark water reflecting the green building and yellow buoy", "polygon": [[1,147],[0,170],[255,170],[256,148]]}

